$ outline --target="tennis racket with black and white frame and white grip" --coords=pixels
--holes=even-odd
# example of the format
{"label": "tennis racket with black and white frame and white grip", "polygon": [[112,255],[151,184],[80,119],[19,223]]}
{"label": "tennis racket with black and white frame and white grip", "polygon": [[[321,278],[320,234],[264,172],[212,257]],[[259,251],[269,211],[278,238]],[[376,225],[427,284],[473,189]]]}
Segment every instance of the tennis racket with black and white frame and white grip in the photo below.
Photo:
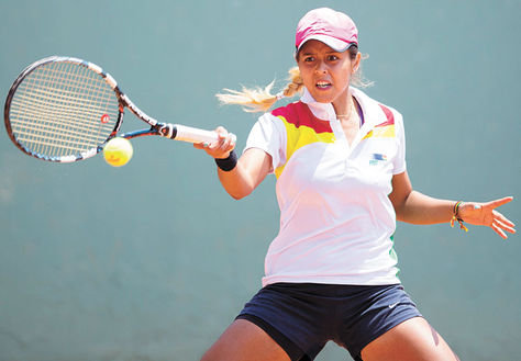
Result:
{"label": "tennis racket with black and white frame and white grip", "polygon": [[[149,128],[118,134],[125,108]],[[55,162],[90,158],[115,136],[159,135],[189,143],[219,139],[215,132],[159,123],[142,112],[99,66],[62,56],[35,61],[20,74],[5,100],[4,121],[19,149]]]}

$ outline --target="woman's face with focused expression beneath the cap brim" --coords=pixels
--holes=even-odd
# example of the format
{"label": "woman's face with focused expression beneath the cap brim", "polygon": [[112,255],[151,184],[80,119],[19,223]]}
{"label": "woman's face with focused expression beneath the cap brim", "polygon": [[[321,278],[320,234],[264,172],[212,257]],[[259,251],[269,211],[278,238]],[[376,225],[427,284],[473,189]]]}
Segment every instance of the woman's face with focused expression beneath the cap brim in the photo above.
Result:
{"label": "woman's face with focused expression beneath the cap brim", "polygon": [[311,40],[300,48],[297,64],[302,81],[320,103],[346,101],[351,76],[359,65],[359,54],[351,59],[348,50],[337,53],[322,42]]}

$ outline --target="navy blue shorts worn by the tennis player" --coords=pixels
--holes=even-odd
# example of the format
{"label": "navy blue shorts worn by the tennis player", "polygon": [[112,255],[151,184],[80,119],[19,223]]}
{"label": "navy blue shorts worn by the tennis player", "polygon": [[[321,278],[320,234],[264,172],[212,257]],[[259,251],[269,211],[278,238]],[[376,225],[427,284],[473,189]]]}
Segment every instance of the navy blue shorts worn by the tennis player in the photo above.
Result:
{"label": "navy blue shorts worn by the tennis player", "polygon": [[262,289],[237,319],[266,331],[291,360],[313,360],[330,340],[355,360],[402,321],[421,316],[400,284],[275,283]]}

